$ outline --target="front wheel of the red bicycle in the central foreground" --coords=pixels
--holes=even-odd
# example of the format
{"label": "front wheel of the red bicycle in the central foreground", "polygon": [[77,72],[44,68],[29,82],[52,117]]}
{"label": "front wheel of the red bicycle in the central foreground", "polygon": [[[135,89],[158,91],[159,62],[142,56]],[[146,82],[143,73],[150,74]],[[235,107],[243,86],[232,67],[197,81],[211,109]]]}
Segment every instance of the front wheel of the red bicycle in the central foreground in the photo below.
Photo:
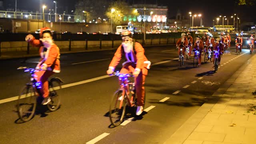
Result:
{"label": "front wheel of the red bicycle in the central foreground", "polygon": [[109,118],[110,122],[114,126],[118,126],[123,122],[125,109],[126,109],[126,98],[118,100],[122,96],[122,90],[117,90],[111,98],[109,107]]}

